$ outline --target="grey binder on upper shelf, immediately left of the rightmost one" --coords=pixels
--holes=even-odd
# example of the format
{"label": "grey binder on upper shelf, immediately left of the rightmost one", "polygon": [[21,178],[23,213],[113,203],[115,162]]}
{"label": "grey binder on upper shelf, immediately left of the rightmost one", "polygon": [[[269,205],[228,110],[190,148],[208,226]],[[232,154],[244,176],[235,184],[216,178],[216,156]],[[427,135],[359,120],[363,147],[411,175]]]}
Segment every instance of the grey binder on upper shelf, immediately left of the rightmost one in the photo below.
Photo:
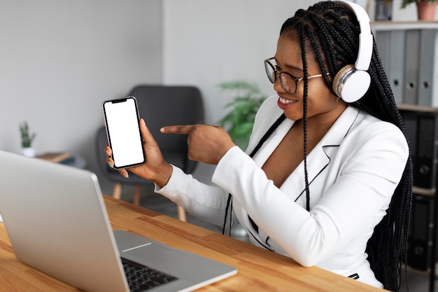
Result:
{"label": "grey binder on upper shelf, immediately left of the rightmost one", "polygon": [[404,104],[418,104],[418,66],[420,63],[420,29],[408,29],[404,35]]}

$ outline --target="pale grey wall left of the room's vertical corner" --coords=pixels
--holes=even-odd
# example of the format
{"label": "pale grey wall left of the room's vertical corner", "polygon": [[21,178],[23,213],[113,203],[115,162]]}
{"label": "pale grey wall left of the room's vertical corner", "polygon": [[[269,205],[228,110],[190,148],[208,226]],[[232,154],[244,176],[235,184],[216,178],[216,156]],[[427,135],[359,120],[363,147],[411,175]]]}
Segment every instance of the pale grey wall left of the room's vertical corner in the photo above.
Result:
{"label": "pale grey wall left of the room's vertical corner", "polygon": [[160,0],[0,0],[0,148],[83,155],[98,172],[101,102],[162,82]]}

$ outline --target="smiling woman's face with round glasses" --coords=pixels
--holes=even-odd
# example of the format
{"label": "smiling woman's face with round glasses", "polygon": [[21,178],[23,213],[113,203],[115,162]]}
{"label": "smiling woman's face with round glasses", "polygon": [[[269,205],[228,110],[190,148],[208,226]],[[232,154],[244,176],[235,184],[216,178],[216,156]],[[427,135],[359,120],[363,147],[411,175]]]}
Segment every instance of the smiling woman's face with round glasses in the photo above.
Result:
{"label": "smiling woman's face with round glasses", "polygon": [[[275,60],[279,72],[285,71],[297,78],[304,77],[299,41],[292,40],[289,36],[280,36]],[[318,62],[310,53],[307,53],[307,72],[308,76],[322,73]],[[330,79],[332,77],[329,76]],[[311,119],[318,120],[318,118],[324,119],[332,116],[332,114],[339,116],[344,111],[346,104],[330,92],[323,77],[310,79],[308,84],[307,118],[309,121]],[[277,76],[274,90],[278,94],[278,106],[283,109],[285,116],[290,120],[302,119],[304,116],[304,81],[299,81],[297,83],[297,92],[290,95],[284,90]]]}

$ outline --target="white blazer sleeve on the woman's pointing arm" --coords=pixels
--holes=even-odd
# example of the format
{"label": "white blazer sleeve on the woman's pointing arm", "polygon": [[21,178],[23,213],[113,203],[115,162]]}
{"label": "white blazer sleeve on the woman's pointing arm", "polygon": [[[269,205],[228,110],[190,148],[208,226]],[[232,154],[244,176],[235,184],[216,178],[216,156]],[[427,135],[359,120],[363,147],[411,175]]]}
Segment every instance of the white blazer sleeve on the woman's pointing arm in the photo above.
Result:
{"label": "white blazer sleeve on the woman's pointing arm", "polygon": [[[220,160],[213,183],[232,193],[233,200],[289,256],[301,265],[316,265],[370,223],[374,228],[376,216],[382,217],[388,207],[409,155],[404,135],[390,123],[374,123],[347,136],[339,147],[336,167],[330,169],[336,179],[320,190],[311,189],[311,198],[312,191],[322,193],[310,211],[294,202],[287,190],[274,186],[237,147]],[[327,174],[321,179],[325,177]]]}

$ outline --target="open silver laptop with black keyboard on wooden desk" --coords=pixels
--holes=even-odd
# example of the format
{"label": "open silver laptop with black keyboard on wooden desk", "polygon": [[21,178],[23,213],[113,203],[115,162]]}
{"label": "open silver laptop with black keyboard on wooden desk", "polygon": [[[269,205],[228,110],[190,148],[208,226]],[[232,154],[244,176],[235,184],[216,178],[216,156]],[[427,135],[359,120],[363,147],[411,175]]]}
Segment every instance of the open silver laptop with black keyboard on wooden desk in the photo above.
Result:
{"label": "open silver laptop with black keyboard on wooden desk", "polygon": [[125,270],[143,266],[165,273],[158,280],[165,284],[147,290],[153,292],[192,291],[237,272],[131,232],[113,232],[90,171],[6,151],[0,161],[0,214],[22,263],[90,292],[129,291]]}

